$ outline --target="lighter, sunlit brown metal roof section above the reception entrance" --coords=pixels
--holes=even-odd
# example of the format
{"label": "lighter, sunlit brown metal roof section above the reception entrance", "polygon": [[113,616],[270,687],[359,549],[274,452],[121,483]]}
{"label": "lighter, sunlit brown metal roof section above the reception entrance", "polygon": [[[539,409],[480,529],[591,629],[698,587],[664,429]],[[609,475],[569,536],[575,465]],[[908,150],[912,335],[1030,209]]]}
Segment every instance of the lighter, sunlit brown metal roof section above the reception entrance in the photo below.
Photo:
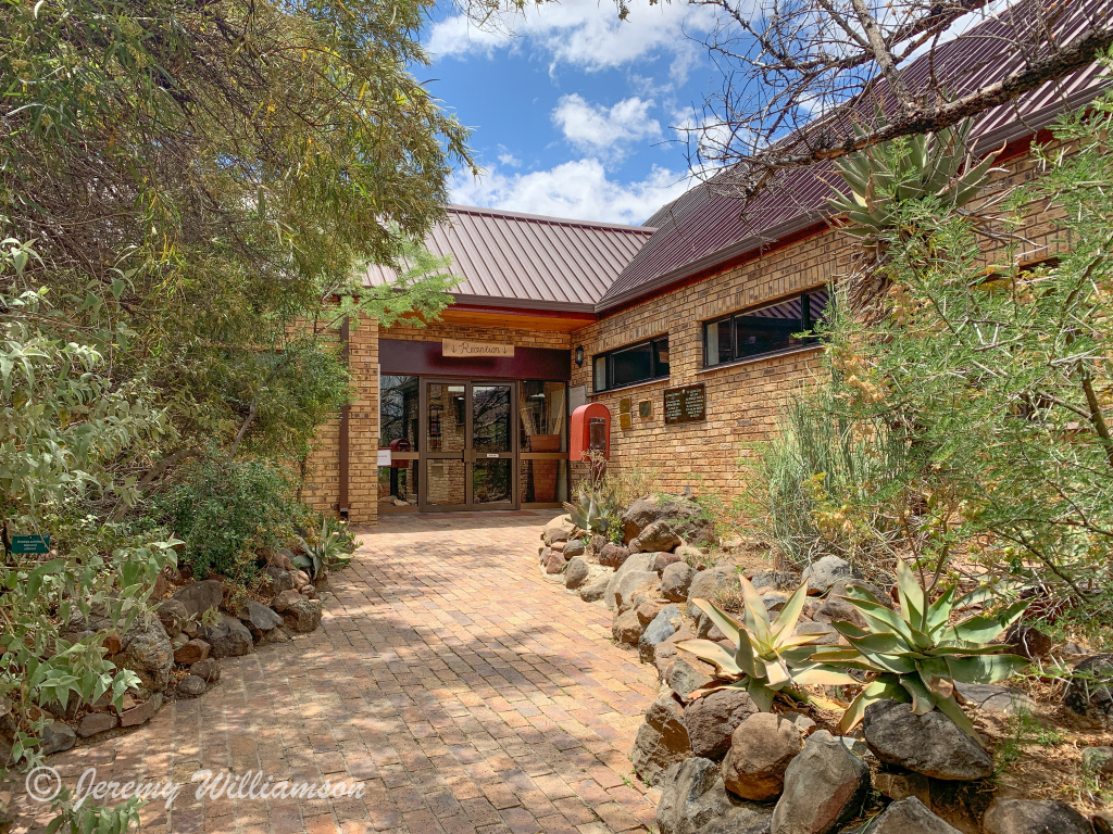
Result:
{"label": "lighter, sunlit brown metal roof section above the reception entrance", "polygon": [[[564,220],[514,211],[446,206],[447,218],[425,238],[439,257],[452,256],[464,280],[456,304],[593,311],[614,278],[649,240],[646,226]],[[393,280],[373,266],[365,282]]]}

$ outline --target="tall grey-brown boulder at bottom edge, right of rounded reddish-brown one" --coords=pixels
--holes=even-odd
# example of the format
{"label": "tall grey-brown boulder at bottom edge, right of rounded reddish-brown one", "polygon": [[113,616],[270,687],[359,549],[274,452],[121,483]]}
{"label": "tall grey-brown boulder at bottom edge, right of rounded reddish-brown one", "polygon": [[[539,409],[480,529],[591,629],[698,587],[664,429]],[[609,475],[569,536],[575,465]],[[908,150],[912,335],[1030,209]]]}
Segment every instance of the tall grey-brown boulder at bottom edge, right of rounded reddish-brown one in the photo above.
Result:
{"label": "tall grey-brown boulder at bottom edge, right of rounded reddish-brown one", "polygon": [[866,763],[819,729],[785,772],[770,834],[829,834],[857,815],[868,791]]}

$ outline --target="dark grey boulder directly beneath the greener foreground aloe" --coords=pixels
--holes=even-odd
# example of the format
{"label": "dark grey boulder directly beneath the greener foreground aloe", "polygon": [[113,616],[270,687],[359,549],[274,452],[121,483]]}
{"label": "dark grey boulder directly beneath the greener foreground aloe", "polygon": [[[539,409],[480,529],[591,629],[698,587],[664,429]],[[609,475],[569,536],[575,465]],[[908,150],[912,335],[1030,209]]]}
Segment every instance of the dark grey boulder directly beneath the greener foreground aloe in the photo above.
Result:
{"label": "dark grey boulder directly beneath the greener foreground aloe", "polygon": [[881,762],[938,780],[993,774],[993,757],[946,715],[913,715],[909,704],[878,701],[866,707],[866,744]]}

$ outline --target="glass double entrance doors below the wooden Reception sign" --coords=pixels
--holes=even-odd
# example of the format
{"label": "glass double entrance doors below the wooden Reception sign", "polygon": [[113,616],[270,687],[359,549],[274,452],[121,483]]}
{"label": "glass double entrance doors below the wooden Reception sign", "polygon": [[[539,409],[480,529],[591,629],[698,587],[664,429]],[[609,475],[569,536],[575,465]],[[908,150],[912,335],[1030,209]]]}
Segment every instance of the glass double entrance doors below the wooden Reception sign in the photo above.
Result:
{"label": "glass double entrance doors below the wooden Reception sign", "polygon": [[423,510],[514,509],[514,383],[426,379]]}

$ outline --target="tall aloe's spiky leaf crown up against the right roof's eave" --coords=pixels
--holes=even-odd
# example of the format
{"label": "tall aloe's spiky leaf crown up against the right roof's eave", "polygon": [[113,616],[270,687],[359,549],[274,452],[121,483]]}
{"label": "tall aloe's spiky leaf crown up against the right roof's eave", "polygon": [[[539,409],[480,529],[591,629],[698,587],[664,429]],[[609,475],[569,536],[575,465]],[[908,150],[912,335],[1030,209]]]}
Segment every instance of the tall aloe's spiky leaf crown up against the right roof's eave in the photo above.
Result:
{"label": "tall aloe's spiky leaf crown up against the right roof's eave", "polygon": [[840,160],[838,172],[850,191],[836,190],[828,202],[850,221],[845,231],[864,247],[875,248],[902,202],[935,196],[962,207],[974,199],[999,151],[975,165],[968,150],[972,123],[967,119],[936,133],[900,140],[899,148],[885,142]]}

